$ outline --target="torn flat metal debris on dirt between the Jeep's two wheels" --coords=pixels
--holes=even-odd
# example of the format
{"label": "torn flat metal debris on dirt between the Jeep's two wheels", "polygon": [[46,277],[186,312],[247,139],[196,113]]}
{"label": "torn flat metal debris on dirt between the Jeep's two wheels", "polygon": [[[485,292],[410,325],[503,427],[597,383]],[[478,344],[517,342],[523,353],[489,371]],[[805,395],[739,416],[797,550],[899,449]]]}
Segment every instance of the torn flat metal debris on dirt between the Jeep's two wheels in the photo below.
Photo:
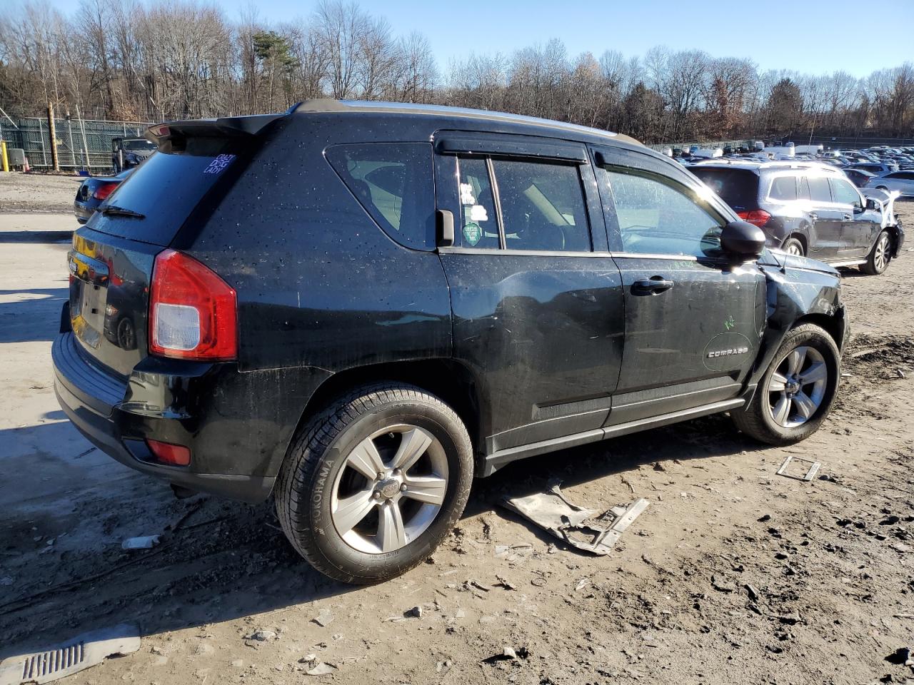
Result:
{"label": "torn flat metal debris on dirt between the Jeep's two wheels", "polygon": [[650,502],[639,498],[631,504],[612,507],[600,513],[568,501],[558,487],[527,497],[506,499],[502,506],[519,513],[543,530],[572,547],[605,555],[619,542],[622,532],[647,509]]}

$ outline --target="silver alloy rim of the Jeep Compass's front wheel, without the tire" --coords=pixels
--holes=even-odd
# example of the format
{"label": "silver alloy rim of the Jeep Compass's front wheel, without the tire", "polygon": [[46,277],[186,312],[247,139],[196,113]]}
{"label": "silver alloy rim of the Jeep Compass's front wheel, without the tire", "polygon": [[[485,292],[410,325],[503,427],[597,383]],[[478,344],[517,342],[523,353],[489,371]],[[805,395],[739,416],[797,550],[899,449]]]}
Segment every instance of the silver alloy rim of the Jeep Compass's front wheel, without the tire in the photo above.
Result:
{"label": "silver alloy rim of the Jeep Compass's front wheel, without the tire", "polygon": [[822,406],[828,367],[813,347],[797,347],[775,367],[768,383],[768,410],[778,426],[802,426]]}

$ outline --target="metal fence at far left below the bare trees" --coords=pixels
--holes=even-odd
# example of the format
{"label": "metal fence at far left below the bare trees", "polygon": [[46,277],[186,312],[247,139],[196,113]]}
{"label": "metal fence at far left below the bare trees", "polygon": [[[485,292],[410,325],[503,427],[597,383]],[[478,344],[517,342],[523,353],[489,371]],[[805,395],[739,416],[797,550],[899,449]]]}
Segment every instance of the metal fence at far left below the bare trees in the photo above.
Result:
{"label": "metal fence at far left below the bare trees", "polygon": [[[93,172],[111,170],[112,138],[142,136],[149,125],[147,121],[56,118],[54,130],[60,168]],[[32,168],[54,167],[47,118],[4,119],[0,121],[0,136],[6,141],[7,149],[22,148]]]}

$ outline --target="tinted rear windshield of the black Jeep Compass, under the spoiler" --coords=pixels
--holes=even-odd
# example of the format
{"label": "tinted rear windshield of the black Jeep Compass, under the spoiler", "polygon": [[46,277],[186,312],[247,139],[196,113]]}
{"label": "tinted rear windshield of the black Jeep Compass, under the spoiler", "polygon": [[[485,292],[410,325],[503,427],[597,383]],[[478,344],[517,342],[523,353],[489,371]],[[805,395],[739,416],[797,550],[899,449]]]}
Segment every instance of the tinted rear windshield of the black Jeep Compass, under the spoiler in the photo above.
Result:
{"label": "tinted rear windshield of the black Jeep Compass, under the spoiler", "polygon": [[229,174],[237,177],[245,158],[231,139],[197,138],[180,152],[156,152],[141,163],[100,207],[118,207],[143,215],[102,216],[89,227],[112,236],[168,245],[200,200]]}

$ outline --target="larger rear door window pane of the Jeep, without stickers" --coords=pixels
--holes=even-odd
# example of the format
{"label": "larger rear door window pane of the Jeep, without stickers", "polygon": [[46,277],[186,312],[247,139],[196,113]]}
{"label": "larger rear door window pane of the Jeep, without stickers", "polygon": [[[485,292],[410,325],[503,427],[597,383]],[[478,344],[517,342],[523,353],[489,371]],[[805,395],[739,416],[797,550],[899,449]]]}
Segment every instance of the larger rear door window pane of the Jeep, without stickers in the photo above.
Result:
{"label": "larger rear door window pane of the Jeep, without stickers", "polygon": [[577,166],[493,160],[505,248],[589,252],[590,227]]}

